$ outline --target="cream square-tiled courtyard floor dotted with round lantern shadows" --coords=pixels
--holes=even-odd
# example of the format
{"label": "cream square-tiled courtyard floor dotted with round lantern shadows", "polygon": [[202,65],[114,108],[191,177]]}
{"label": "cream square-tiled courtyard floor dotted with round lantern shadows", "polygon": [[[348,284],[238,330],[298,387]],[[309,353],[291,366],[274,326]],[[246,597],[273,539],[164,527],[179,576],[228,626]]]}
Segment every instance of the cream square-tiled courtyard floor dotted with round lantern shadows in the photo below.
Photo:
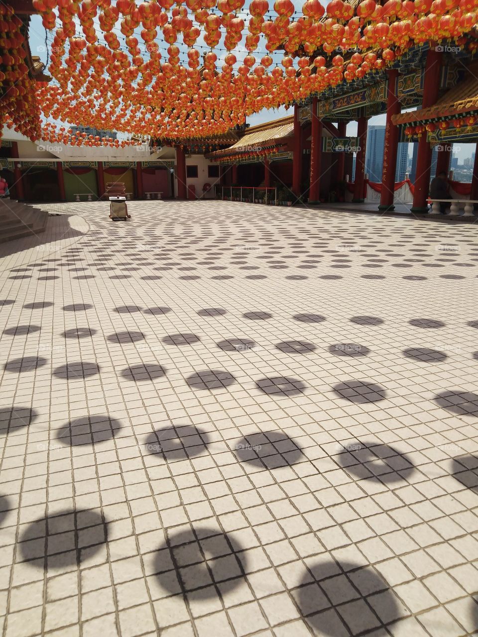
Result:
{"label": "cream square-tiled courtyard floor dotted with round lantern shadows", "polygon": [[477,225],[54,208],[0,246],[3,637],[478,630]]}

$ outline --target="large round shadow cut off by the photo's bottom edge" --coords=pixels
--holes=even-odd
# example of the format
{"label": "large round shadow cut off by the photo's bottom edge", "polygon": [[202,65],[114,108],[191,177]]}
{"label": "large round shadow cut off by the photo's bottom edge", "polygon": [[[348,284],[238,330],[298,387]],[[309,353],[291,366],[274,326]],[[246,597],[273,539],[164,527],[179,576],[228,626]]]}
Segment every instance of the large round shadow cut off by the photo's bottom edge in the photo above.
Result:
{"label": "large round shadow cut off by the photo's bottom edge", "polygon": [[[377,615],[384,622],[396,620],[400,617],[400,606],[389,585],[372,566],[328,559],[310,564],[309,569],[317,582],[311,583],[306,571],[302,585],[292,594],[314,634],[345,637],[365,634],[364,631],[368,634],[371,629],[375,629],[370,633],[373,637],[390,634]],[[331,599],[335,612],[322,612],[328,606],[324,594]]]}

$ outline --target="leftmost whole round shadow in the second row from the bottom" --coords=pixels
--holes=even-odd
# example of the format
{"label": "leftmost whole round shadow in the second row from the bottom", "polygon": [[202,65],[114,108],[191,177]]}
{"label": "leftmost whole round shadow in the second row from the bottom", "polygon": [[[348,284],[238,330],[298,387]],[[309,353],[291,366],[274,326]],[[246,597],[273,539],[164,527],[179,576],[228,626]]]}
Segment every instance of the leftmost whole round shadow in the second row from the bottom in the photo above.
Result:
{"label": "leftmost whole round shadow in the second row from the bottom", "polygon": [[66,447],[92,447],[96,443],[115,438],[121,427],[119,420],[105,414],[82,416],[70,420],[67,425],[58,429],[56,438]]}

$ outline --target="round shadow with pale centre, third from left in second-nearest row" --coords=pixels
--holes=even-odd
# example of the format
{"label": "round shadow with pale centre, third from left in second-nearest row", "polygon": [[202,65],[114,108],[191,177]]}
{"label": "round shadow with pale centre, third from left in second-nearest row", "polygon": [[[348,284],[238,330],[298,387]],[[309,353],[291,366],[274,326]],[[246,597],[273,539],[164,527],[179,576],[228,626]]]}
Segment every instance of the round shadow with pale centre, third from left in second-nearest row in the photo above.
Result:
{"label": "round shadow with pale centre, third from left in second-nearest row", "polygon": [[206,451],[211,439],[208,433],[192,425],[173,425],[156,429],[145,441],[150,454],[167,454],[167,459],[187,459]]}

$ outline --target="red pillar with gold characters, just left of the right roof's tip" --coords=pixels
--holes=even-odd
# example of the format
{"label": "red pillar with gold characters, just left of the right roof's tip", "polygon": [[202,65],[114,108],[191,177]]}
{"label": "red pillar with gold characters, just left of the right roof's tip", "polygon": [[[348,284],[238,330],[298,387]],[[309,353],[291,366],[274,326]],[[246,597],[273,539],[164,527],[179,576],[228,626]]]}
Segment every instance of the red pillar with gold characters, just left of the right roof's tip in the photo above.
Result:
{"label": "red pillar with gold characters, just left of the right roof's tip", "polygon": [[379,210],[395,210],[393,195],[395,192],[396,155],[398,154],[398,126],[393,124],[393,115],[398,115],[402,104],[398,101],[398,71],[387,71],[387,121],[385,125],[384,162],[382,170],[382,192]]}

